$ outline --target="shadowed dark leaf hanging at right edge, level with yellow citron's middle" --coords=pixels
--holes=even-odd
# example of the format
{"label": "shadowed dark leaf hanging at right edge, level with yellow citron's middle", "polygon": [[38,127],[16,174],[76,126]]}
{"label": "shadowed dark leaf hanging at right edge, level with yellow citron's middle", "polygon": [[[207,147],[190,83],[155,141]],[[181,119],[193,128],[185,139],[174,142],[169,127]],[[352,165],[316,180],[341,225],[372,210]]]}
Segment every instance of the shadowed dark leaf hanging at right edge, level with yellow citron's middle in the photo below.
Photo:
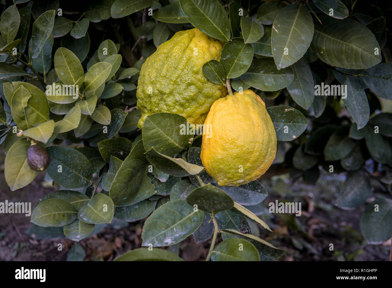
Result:
{"label": "shadowed dark leaf hanging at right edge, level with yellow citron's middle", "polygon": [[392,156],[389,142],[379,133],[374,133],[373,129],[369,130],[365,137],[365,142],[370,156],[379,163],[387,163]]}

